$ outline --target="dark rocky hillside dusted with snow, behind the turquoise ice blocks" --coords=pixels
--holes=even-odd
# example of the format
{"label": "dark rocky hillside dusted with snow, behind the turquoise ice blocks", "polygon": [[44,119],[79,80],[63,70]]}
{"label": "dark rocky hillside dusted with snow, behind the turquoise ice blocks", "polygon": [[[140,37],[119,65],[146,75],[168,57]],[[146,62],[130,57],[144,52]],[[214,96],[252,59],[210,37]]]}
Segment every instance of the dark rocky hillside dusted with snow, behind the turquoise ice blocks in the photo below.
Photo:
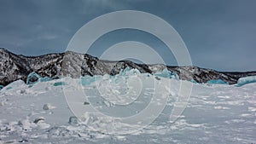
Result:
{"label": "dark rocky hillside dusted with snow, behind the turquoise ice blocks", "polygon": [[79,78],[84,75],[117,74],[121,69],[130,66],[140,72],[160,72],[167,68],[176,72],[179,78],[197,83],[206,83],[212,79],[222,79],[228,84],[236,84],[241,77],[256,75],[256,72],[217,72],[196,66],[164,66],[137,64],[128,60],[99,60],[87,54],[77,54],[71,51],[60,54],[41,56],[15,55],[7,49],[0,49],[0,84],[7,85],[15,80],[26,81],[29,73],[37,72],[41,77],[60,78],[70,76]]}

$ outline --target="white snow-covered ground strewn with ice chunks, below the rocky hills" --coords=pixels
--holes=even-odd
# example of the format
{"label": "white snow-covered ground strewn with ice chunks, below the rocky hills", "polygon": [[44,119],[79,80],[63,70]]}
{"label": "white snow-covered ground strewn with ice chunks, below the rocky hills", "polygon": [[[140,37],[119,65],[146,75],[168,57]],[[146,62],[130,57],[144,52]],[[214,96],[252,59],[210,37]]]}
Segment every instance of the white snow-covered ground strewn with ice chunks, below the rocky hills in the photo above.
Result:
{"label": "white snow-covered ground strewn with ice chunks, below the rocky hills", "polygon": [[[194,84],[186,109],[171,123],[181,81],[131,72],[9,84],[0,90],[0,143],[256,143],[255,83],[241,87]],[[125,131],[118,121],[96,118],[93,112],[84,113],[86,124],[79,121],[68,107],[63,89],[67,89],[65,94],[79,97],[72,102],[81,109],[91,106],[108,116],[124,118],[142,112],[154,93],[169,97],[166,103],[153,101],[155,106],[166,107],[152,124],[116,135]],[[79,90],[84,95],[75,95]],[[91,130],[89,125],[97,129]],[[115,134],[108,133],[114,126]]]}

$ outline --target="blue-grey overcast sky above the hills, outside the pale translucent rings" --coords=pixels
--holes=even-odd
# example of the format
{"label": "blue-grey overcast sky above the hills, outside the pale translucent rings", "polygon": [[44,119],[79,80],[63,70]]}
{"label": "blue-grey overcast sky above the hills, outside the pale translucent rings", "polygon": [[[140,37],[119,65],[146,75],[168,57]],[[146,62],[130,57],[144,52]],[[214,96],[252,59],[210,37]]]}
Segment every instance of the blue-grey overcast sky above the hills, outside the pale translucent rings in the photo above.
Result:
{"label": "blue-grey overcast sky above the hills, outside the pale translucent rings", "polygon": [[[117,10],[140,10],[171,24],[189,49],[193,65],[218,71],[256,70],[254,0],[0,0],[0,47],[15,54],[64,52],[88,21]],[[176,65],[157,38],[145,32],[110,32],[90,48],[99,56],[114,43],[147,43]]]}

